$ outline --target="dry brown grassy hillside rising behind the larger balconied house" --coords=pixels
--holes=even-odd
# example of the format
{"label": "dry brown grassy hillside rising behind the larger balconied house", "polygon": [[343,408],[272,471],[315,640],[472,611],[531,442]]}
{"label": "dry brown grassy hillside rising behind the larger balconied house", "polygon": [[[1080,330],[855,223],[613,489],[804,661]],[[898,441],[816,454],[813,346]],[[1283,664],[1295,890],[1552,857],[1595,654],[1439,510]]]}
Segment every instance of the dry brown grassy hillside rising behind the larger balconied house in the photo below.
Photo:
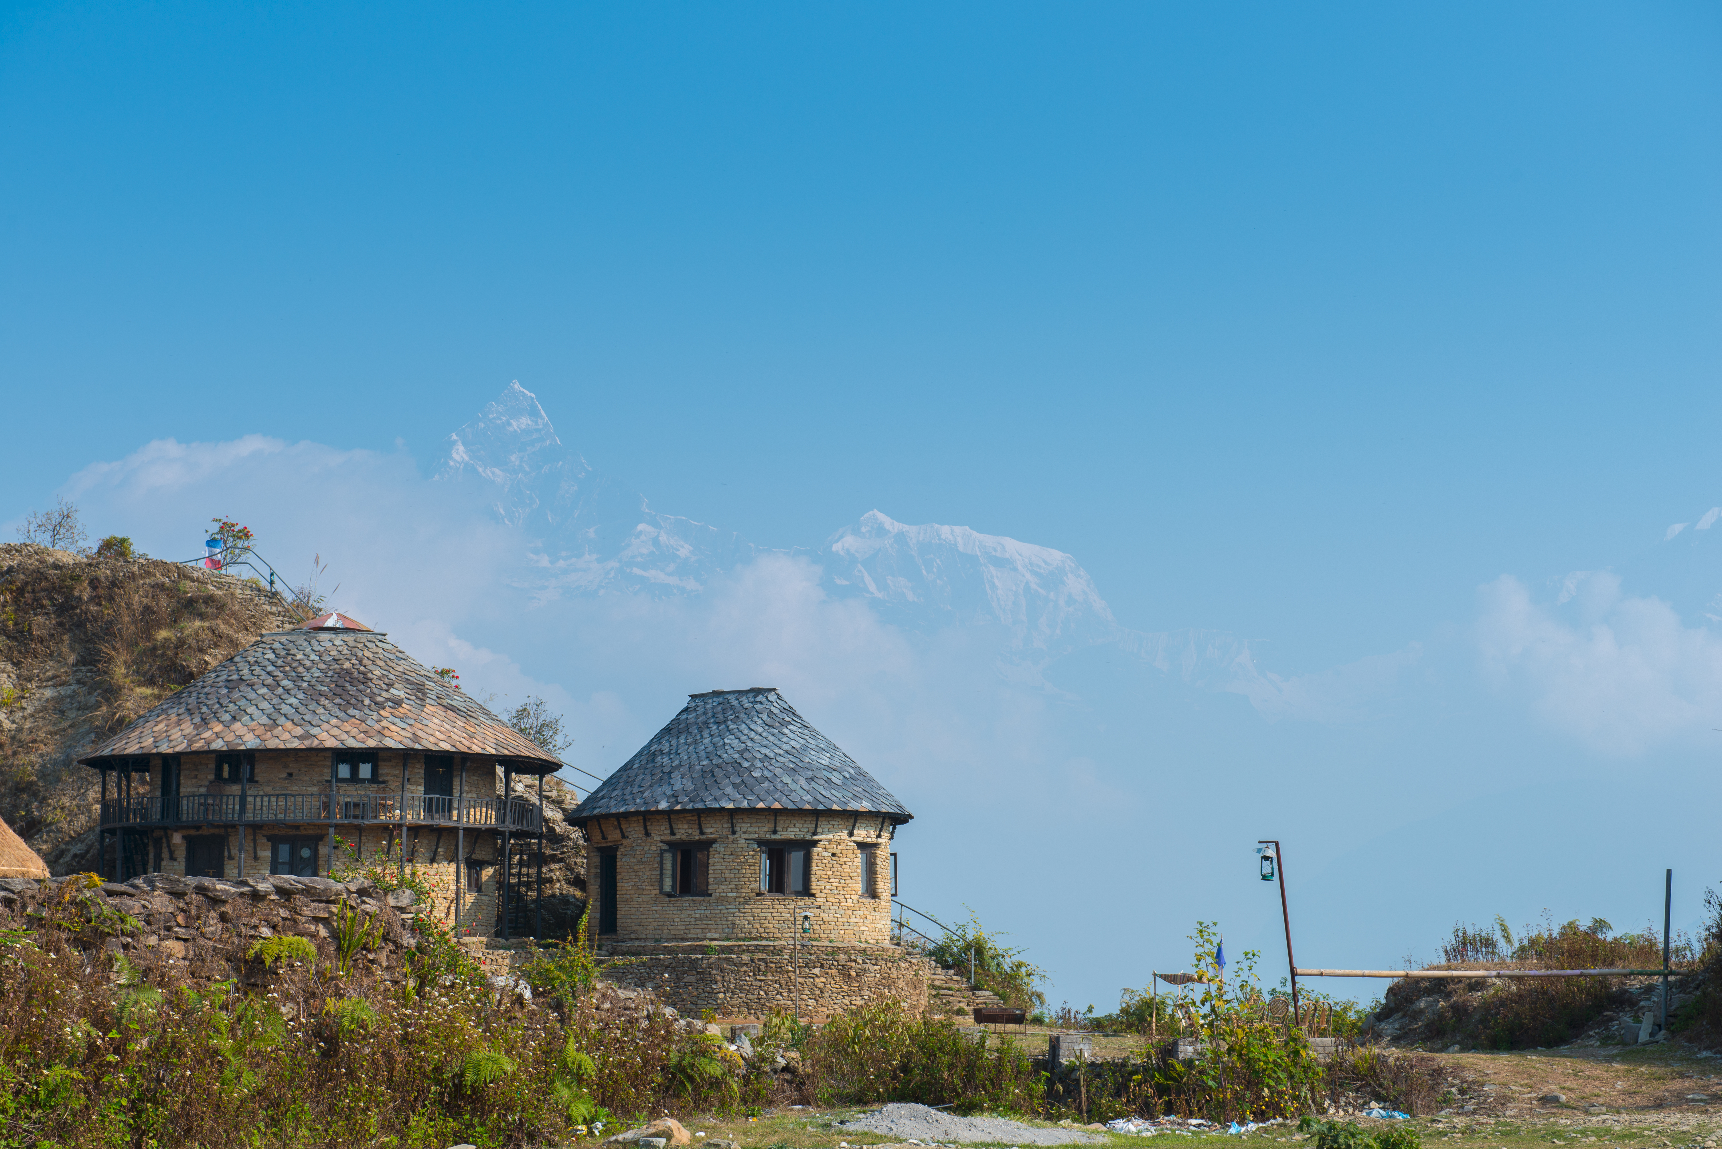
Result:
{"label": "dry brown grassy hillside rising behind the larger balconied house", "polygon": [[296,623],[229,574],[0,544],[0,817],[55,874],[95,870],[98,776],[77,755]]}

